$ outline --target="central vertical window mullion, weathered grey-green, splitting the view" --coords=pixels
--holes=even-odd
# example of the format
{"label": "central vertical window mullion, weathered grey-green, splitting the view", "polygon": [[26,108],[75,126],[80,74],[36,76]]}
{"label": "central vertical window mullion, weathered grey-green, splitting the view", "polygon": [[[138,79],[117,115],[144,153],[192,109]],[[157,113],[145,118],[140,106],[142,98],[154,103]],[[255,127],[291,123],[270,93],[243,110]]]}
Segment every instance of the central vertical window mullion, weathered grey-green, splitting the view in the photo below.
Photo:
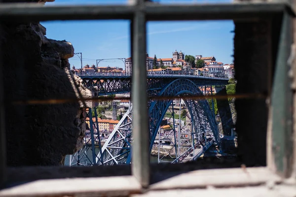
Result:
{"label": "central vertical window mullion, weathered grey-green, splitting the view", "polygon": [[149,126],[147,109],[146,71],[146,17],[140,11],[144,0],[138,0],[139,9],[134,13],[132,31],[132,103],[133,144],[132,174],[142,187],[149,185]]}

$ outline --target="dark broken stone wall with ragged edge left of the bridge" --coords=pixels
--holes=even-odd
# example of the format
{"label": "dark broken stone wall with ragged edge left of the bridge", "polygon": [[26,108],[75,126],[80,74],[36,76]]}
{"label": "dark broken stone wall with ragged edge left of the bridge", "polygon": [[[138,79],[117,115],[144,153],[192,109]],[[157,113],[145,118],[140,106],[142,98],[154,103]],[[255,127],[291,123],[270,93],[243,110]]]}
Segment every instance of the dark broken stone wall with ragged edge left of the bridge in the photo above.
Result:
{"label": "dark broken stone wall with ragged edge left of the bridge", "polygon": [[[3,0],[40,2],[46,0]],[[54,1],[54,0],[49,0]],[[70,42],[48,39],[39,23],[1,24],[7,164],[58,165],[82,146],[85,108],[92,92],[70,71]],[[73,99],[73,102],[16,104],[17,100]]]}

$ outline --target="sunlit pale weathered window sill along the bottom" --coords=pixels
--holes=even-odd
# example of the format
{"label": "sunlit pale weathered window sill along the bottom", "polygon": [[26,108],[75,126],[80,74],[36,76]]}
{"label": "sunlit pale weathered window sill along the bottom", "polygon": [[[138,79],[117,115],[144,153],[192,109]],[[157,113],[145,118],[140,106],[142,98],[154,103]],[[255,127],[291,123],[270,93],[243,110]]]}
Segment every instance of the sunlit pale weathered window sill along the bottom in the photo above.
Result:
{"label": "sunlit pale weathered window sill along the bottom", "polygon": [[[100,166],[97,166],[97,168],[92,168],[94,173],[96,173],[95,171],[98,170],[98,167]],[[122,167],[124,169],[129,166]],[[50,168],[51,167],[48,169]],[[70,168],[65,169],[69,170]],[[89,168],[90,171],[92,171],[92,169],[91,167]],[[15,172],[16,171],[14,171],[14,173]],[[36,170],[36,173],[38,173],[38,170]],[[50,173],[50,171],[48,171],[48,173]],[[154,176],[154,183],[149,186],[148,190],[146,190],[146,196],[158,196],[171,193],[174,193],[175,195],[179,194],[179,196],[190,196],[190,194],[194,191],[201,193],[204,193],[205,191],[208,192],[210,191],[209,187],[216,188],[215,191],[221,190],[224,191],[225,194],[229,193],[232,195],[233,193],[234,195],[240,190],[222,190],[219,188],[247,187],[244,188],[244,190],[248,191],[248,186],[262,186],[271,184],[272,187],[275,187],[277,184],[282,183],[282,179],[272,173],[267,167],[205,169],[184,173],[180,172],[179,174],[177,174],[177,172],[163,172],[163,174],[159,174],[159,172],[157,173],[157,176],[155,176],[152,172],[151,176]],[[265,191],[267,189],[262,189],[262,191],[263,190]],[[128,196],[131,194],[142,193],[143,190],[140,183],[133,176],[105,176],[96,178],[37,180],[4,189],[0,191],[0,197],[37,197],[63,195]],[[265,194],[269,194],[268,191],[264,193],[264,196]]]}

